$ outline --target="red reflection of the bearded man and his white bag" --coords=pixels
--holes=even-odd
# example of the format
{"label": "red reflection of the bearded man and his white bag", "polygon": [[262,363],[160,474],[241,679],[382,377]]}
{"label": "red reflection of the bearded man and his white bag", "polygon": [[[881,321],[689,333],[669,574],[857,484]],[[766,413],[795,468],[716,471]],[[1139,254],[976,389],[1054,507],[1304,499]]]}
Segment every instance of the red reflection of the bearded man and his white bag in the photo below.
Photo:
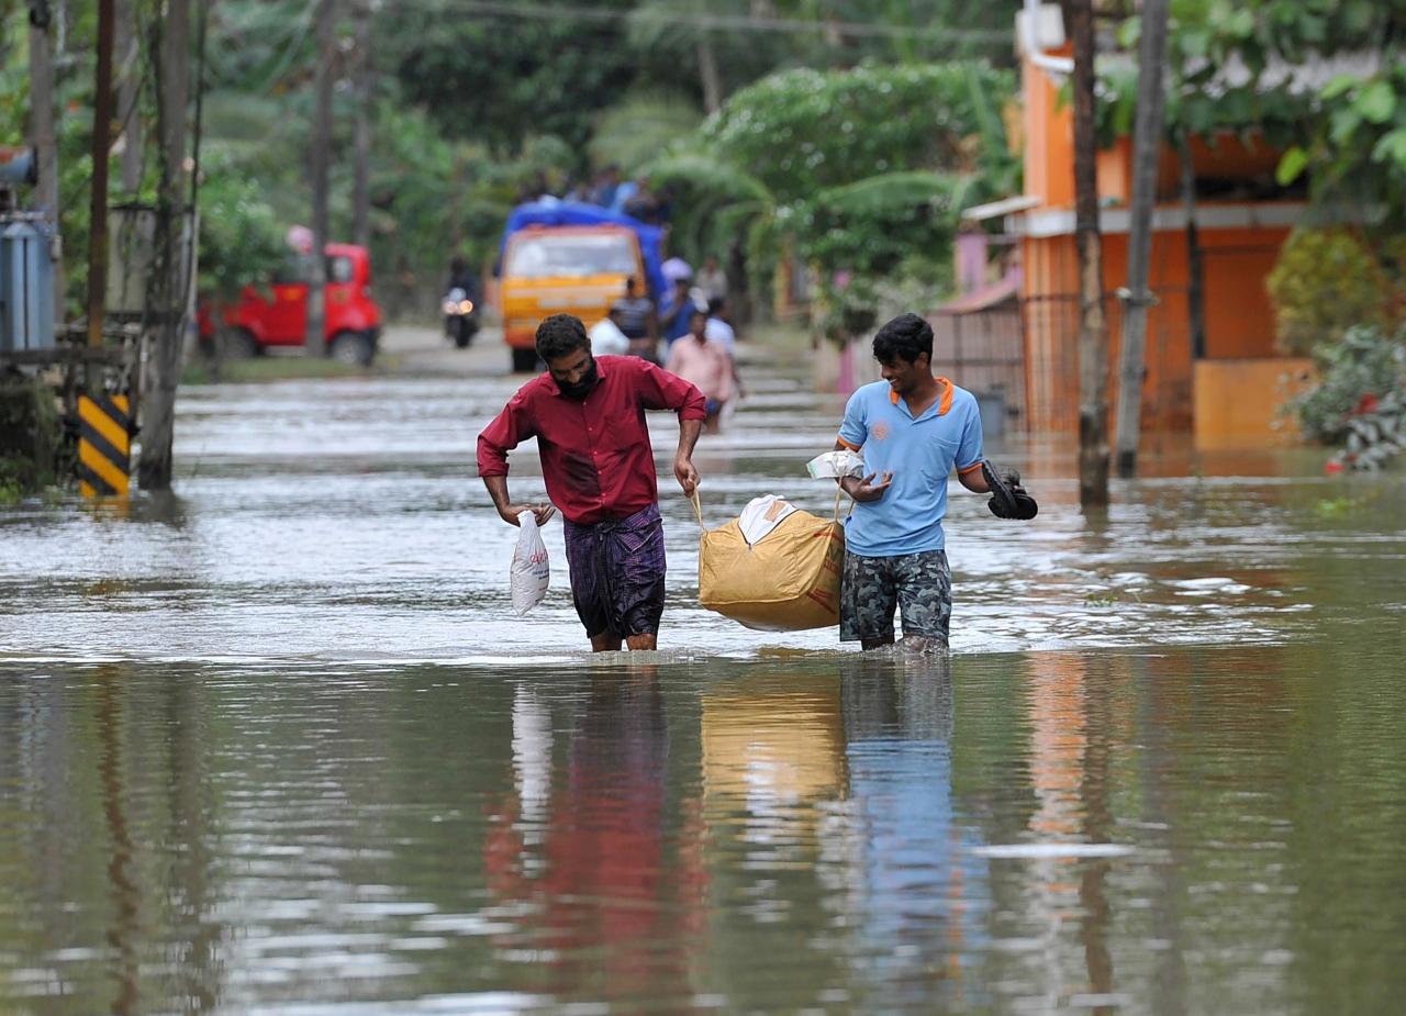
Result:
{"label": "red reflection of the bearded man and his white bag", "polygon": [[495,905],[530,904],[533,918],[496,937],[499,956],[538,964],[536,986],[553,995],[669,991],[688,968],[702,873],[697,823],[669,829],[658,667],[591,677],[571,708],[555,784],[548,724],[538,694],[519,684],[512,787],[492,808],[484,867]]}

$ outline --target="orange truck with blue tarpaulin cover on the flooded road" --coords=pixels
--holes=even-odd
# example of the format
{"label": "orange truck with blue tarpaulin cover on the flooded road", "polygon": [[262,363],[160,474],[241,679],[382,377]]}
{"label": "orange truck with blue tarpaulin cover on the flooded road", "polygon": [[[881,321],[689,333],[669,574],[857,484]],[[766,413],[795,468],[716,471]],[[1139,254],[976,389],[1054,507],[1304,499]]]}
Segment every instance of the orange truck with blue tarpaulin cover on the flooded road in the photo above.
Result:
{"label": "orange truck with blue tarpaulin cover on the flooded road", "polygon": [[543,318],[571,313],[589,329],[631,275],[658,297],[661,253],[661,230],[627,215],[568,201],[519,205],[503,233],[498,297],[513,370],[537,368]]}

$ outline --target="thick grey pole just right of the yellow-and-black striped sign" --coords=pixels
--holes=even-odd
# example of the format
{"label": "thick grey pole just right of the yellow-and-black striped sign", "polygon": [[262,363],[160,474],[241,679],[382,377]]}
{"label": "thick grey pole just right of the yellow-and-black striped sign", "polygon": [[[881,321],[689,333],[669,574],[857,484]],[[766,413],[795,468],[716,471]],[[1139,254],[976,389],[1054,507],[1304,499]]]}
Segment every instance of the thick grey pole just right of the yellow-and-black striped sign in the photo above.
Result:
{"label": "thick grey pole just right of the yellow-and-black striped sign", "polygon": [[[111,0],[104,0],[110,3]],[[190,309],[186,239],[186,111],[190,104],[190,0],[167,0],[159,30],[162,45],[157,93],[160,180],[156,195],[156,280],[152,301],[156,341],[148,358],[142,396],[142,458],[138,481],[143,490],[169,490],[172,443],[176,433],[176,385],[180,381]],[[194,222],[191,221],[191,229]]]}

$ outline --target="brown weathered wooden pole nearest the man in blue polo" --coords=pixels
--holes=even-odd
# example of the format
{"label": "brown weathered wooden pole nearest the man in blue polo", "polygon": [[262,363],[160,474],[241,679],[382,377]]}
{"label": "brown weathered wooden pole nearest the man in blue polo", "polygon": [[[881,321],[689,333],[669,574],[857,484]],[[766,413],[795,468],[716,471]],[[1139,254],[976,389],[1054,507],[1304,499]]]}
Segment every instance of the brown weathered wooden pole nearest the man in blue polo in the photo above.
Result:
{"label": "brown weathered wooden pole nearest the man in blue polo", "polygon": [[1078,250],[1078,503],[1108,506],[1108,322],[1094,166],[1094,3],[1067,0],[1074,44],[1074,243]]}

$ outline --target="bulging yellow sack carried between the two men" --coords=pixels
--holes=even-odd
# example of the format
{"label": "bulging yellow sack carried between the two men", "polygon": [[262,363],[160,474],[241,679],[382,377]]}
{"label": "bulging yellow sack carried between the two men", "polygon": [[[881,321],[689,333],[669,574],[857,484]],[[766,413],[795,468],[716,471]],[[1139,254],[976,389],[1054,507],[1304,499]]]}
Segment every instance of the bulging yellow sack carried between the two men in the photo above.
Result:
{"label": "bulging yellow sack carried between the two men", "polygon": [[[702,510],[699,524],[703,524]],[[704,530],[699,542],[699,603],[762,631],[839,624],[845,530],[838,520],[793,512],[748,544],[737,519]]]}

